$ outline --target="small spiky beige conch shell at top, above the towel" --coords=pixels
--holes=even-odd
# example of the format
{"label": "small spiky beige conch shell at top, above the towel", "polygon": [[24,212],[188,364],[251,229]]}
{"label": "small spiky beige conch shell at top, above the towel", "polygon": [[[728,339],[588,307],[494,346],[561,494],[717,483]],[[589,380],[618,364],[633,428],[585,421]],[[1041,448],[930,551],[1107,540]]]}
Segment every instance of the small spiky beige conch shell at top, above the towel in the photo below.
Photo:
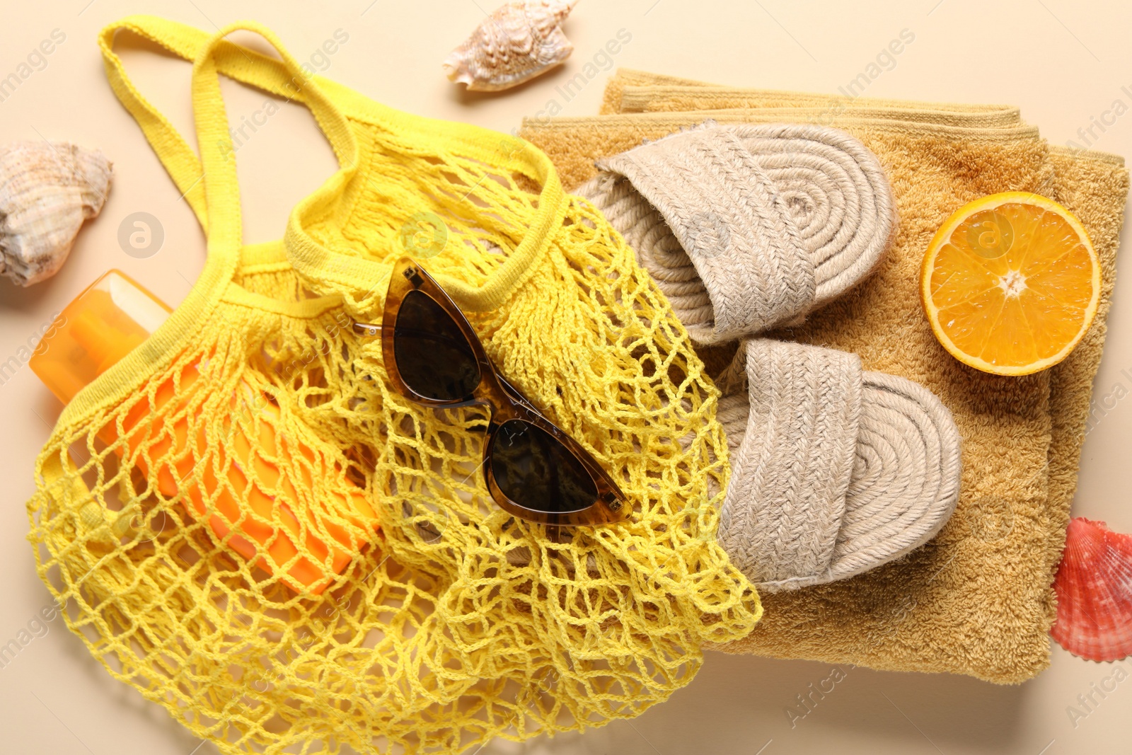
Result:
{"label": "small spiky beige conch shell at top, above the towel", "polygon": [[444,61],[453,81],[475,92],[507,89],[561,65],[574,45],[560,24],[577,0],[508,2]]}

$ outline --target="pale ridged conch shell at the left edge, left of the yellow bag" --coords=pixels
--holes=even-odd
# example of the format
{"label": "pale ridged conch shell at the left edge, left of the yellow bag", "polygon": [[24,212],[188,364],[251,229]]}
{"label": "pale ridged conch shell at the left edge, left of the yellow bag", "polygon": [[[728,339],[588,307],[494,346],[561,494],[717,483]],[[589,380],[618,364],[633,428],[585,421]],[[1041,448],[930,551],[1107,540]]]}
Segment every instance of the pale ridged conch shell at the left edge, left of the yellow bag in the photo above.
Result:
{"label": "pale ridged conch shell at the left edge, left of the yellow bag", "polygon": [[102,211],[111,164],[66,141],[0,147],[0,274],[20,285],[62,267],[83,221]]}

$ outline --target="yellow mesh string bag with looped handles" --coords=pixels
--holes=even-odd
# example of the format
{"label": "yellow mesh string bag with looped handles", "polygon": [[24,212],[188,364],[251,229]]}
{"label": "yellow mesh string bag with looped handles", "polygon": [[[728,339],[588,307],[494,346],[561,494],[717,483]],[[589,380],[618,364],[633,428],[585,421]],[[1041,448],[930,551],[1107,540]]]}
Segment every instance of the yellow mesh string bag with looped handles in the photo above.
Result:
{"label": "yellow mesh string bag with looped handles", "polygon": [[[223,38],[237,28],[282,60]],[[199,160],[126,78],[120,29],[195,61]],[[758,598],[714,542],[718,393],[541,152],[308,77],[255,24],[209,37],[131,17],[101,45],[208,237],[185,302],[67,405],[36,465],[38,573],[110,674],[225,753],[447,753],[637,715],[693,678],[704,642],[751,630]],[[335,149],[282,242],[242,244],[218,74],[306,104]],[[552,537],[512,518],[478,469],[484,411],[391,389],[379,340],[349,325],[380,318],[421,217],[446,233],[429,272],[616,475],[628,522]],[[359,491],[371,517],[342,505]],[[328,584],[292,578],[302,564]]]}

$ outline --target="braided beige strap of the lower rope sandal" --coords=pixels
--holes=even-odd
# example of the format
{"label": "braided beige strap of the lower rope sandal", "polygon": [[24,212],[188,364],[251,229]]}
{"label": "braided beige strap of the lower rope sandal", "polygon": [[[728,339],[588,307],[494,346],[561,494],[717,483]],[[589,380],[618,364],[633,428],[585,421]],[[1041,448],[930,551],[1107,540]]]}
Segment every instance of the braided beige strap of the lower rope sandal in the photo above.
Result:
{"label": "braided beige strap of the lower rope sandal", "polygon": [[720,406],[728,438],[743,439],[731,455],[720,544],[758,582],[817,576],[833,558],[857,451],[860,359],[751,341],[746,359],[736,361],[751,376],[746,395],[738,394],[748,411],[735,428],[728,420],[739,419],[741,401]]}

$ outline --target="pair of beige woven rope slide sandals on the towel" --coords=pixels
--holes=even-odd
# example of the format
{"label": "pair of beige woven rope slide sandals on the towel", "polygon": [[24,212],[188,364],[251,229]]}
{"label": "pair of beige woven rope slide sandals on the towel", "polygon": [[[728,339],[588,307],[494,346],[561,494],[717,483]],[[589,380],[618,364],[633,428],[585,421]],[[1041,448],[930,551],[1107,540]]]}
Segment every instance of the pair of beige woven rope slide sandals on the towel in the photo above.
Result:
{"label": "pair of beige woven rope slide sandals on the towel", "polygon": [[927,542],[959,496],[959,432],[923,386],[756,337],[866,277],[895,233],[876,157],[843,131],[709,121],[598,162],[601,209],[720,376],[731,481],[719,541],[760,589],[860,574]]}

